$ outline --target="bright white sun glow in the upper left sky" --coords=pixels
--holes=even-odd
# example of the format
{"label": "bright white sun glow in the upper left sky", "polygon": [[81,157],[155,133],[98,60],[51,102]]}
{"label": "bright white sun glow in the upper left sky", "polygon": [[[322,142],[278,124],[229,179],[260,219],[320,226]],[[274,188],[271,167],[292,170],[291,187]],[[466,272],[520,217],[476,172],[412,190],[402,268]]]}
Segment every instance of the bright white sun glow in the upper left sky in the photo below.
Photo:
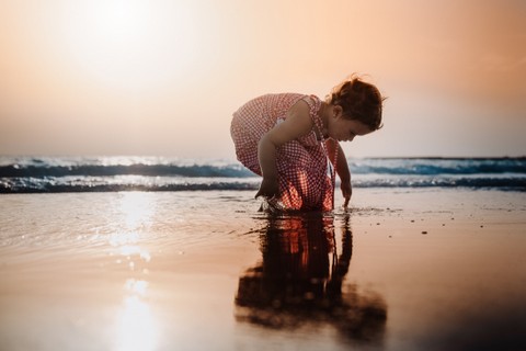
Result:
{"label": "bright white sun glow in the upper left sky", "polygon": [[85,77],[107,88],[151,89],[195,61],[194,10],[163,1],[75,2],[66,10],[65,46]]}

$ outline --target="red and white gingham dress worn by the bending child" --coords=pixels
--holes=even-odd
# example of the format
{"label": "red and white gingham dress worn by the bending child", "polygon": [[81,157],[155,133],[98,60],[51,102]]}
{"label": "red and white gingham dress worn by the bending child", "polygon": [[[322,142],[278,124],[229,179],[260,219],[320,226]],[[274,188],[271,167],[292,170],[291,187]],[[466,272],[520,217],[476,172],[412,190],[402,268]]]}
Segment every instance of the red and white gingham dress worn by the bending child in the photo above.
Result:
{"label": "red and white gingham dress worn by the bending child", "polygon": [[307,102],[315,126],[307,135],[290,140],[276,150],[279,201],[287,210],[331,211],[334,199],[334,174],[328,172],[323,140],[315,128],[322,129],[318,116],[321,100],[296,93],[266,94],[255,98],[233,113],[230,134],[236,155],[248,169],[261,174],[258,160],[260,139],[286,118],[288,110],[299,100]]}

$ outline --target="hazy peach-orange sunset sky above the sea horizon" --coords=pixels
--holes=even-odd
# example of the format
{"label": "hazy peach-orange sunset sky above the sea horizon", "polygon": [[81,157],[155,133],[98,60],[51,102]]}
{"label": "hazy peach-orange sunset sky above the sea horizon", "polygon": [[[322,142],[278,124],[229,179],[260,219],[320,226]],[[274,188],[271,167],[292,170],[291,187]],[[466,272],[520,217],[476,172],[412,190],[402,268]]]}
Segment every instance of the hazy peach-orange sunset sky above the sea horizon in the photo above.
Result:
{"label": "hazy peach-orange sunset sky above the sea horizon", "polygon": [[526,155],[521,0],[0,0],[0,155],[235,159],[244,102],[351,73],[350,157]]}

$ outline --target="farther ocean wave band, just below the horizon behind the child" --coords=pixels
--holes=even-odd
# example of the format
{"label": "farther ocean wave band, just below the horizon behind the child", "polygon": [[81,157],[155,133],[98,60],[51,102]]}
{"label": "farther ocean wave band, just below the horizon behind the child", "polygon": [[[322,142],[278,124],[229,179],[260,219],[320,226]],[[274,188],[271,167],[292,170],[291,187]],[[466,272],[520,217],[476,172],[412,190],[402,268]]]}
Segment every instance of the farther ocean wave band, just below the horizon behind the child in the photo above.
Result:
{"label": "farther ocean wave band, just below the horizon behind the child", "polygon": [[[484,159],[348,159],[354,174],[525,174],[526,158]],[[46,177],[187,177],[248,178],[254,174],[238,162],[167,158],[3,158],[0,178]]]}

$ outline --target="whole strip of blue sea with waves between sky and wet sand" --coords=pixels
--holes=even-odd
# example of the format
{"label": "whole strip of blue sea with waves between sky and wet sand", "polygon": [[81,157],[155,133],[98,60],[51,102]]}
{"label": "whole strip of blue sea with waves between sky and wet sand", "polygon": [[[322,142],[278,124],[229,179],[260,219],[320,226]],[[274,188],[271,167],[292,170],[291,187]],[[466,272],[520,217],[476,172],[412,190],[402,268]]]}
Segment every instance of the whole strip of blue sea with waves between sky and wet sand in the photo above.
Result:
{"label": "whole strip of blue sea with waves between sky and wet sand", "polygon": [[[350,158],[353,188],[526,191],[526,157]],[[0,156],[0,193],[256,190],[235,160]]]}

